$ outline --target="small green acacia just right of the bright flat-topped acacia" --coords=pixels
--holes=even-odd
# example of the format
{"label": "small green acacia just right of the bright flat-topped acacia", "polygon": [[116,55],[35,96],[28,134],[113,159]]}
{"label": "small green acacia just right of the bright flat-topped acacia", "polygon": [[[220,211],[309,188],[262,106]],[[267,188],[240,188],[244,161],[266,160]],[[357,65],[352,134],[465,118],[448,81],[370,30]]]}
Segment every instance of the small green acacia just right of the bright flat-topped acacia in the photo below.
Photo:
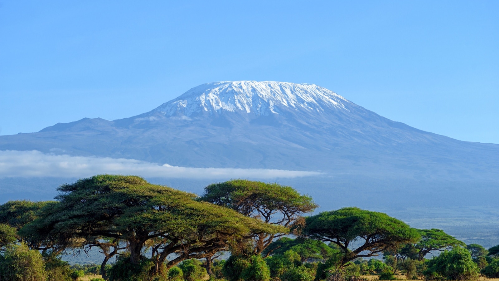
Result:
{"label": "small green acacia just right of the bright flat-topped acacia", "polygon": [[463,241],[445,233],[442,229],[418,229],[418,232],[421,239],[414,245],[419,250],[418,260],[423,260],[431,251],[443,251],[456,246],[466,247]]}

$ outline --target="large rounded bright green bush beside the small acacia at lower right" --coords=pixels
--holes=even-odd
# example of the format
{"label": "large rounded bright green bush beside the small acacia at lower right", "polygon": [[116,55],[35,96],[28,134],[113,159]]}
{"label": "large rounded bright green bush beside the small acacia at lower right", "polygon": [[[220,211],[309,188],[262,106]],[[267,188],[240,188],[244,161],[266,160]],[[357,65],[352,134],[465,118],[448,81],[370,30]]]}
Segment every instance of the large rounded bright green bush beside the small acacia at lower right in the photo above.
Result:
{"label": "large rounded bright green bush beside the small acacia at lower right", "polygon": [[427,279],[470,280],[479,276],[480,269],[466,248],[444,251],[428,262]]}

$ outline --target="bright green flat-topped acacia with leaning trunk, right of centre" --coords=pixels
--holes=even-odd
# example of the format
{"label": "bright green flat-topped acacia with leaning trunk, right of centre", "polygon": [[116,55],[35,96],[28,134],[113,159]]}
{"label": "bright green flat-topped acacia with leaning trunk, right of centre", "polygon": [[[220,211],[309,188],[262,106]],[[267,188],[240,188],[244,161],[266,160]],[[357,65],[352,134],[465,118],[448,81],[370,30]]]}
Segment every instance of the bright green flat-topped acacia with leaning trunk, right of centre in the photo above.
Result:
{"label": "bright green flat-topped acacia with leaning trunk, right of centre", "polygon": [[[306,237],[332,242],[342,252],[340,266],[357,257],[376,256],[389,248],[419,239],[406,223],[385,213],[345,207],[306,217]],[[354,241],[363,240],[357,248]]]}

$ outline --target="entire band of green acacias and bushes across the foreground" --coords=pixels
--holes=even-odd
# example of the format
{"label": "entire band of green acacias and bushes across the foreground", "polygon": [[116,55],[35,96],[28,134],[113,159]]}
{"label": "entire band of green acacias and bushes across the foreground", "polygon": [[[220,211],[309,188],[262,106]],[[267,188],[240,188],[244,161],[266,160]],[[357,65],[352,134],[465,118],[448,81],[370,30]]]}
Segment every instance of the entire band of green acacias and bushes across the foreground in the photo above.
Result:
{"label": "entire band of green acacias and bushes across the foreground", "polygon": [[[235,179],[198,196],[101,174],[57,190],[55,201],[0,205],[1,281],[499,277],[499,245],[467,245],[357,207],[311,215],[312,197],[277,183]],[[61,260],[91,249],[103,253],[101,264]]]}

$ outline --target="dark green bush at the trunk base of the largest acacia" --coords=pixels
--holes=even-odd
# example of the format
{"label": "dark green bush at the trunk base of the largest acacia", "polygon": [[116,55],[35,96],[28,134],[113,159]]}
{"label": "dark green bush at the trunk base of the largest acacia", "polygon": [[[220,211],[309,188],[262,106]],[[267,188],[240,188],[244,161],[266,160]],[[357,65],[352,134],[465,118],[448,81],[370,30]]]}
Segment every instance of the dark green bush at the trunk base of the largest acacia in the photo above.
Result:
{"label": "dark green bush at the trunk base of the largest acacia", "polygon": [[120,255],[107,272],[110,281],[149,281],[154,262],[140,256],[139,263],[130,262],[130,254]]}

